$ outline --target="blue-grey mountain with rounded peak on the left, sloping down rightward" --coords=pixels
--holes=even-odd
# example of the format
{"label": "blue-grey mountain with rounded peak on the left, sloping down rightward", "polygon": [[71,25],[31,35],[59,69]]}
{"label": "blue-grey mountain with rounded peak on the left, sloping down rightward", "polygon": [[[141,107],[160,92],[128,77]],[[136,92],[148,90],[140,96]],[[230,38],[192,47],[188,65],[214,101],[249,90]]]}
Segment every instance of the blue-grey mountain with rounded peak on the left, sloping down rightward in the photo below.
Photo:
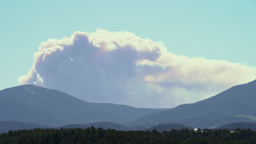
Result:
{"label": "blue-grey mountain with rounded peak on the left, sloping down rightward", "polygon": [[89,103],[60,91],[22,85],[0,91],[0,110],[0,121],[33,122],[60,127],[101,121],[125,123],[164,109]]}

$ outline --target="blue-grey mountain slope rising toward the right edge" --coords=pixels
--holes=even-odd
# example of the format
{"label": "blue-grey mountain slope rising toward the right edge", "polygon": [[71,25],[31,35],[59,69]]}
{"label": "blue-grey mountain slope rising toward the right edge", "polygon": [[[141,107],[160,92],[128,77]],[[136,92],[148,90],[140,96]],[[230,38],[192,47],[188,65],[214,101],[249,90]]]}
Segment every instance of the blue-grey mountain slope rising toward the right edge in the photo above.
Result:
{"label": "blue-grey mountain slope rising toward the right edge", "polygon": [[234,115],[256,115],[256,80],[229,88],[214,97],[194,104],[184,104],[174,109],[153,113],[130,124],[177,122],[196,117],[223,118]]}

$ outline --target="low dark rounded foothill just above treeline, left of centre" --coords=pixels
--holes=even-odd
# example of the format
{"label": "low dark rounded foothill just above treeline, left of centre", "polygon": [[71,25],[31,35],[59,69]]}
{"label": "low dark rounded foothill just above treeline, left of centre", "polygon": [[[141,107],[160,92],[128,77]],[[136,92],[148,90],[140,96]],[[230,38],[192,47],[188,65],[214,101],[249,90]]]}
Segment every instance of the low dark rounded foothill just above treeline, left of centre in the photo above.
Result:
{"label": "low dark rounded foothill just above treeline, left of centre", "polygon": [[64,129],[71,129],[71,128],[90,128],[90,127],[95,127],[95,128],[103,128],[103,129],[115,129],[115,130],[129,130],[126,128],[124,125],[118,124],[118,123],[112,123],[112,122],[96,122],[96,123],[89,123],[89,124],[69,124],[69,125],[64,125],[59,128],[64,128]]}

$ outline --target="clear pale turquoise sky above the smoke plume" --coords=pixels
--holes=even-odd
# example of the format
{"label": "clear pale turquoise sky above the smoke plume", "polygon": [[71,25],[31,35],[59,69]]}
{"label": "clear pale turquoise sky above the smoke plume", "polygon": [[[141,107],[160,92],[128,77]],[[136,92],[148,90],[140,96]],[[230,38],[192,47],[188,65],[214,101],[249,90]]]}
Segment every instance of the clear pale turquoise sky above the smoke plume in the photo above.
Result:
{"label": "clear pale turquoise sky above the smoke plume", "polygon": [[33,53],[74,31],[129,31],[178,55],[256,66],[256,1],[2,1],[0,89],[17,86]]}

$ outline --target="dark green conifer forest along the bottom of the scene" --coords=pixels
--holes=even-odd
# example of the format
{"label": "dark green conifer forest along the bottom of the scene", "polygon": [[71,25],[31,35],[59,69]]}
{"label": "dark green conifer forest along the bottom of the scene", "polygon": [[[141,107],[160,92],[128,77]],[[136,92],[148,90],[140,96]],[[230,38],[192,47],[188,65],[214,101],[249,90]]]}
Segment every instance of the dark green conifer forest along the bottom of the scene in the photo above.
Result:
{"label": "dark green conifer forest along the bottom of the scene", "polygon": [[31,129],[9,131],[0,135],[0,143],[256,143],[256,131],[189,129],[159,132],[153,131],[117,131],[102,128],[75,129]]}

